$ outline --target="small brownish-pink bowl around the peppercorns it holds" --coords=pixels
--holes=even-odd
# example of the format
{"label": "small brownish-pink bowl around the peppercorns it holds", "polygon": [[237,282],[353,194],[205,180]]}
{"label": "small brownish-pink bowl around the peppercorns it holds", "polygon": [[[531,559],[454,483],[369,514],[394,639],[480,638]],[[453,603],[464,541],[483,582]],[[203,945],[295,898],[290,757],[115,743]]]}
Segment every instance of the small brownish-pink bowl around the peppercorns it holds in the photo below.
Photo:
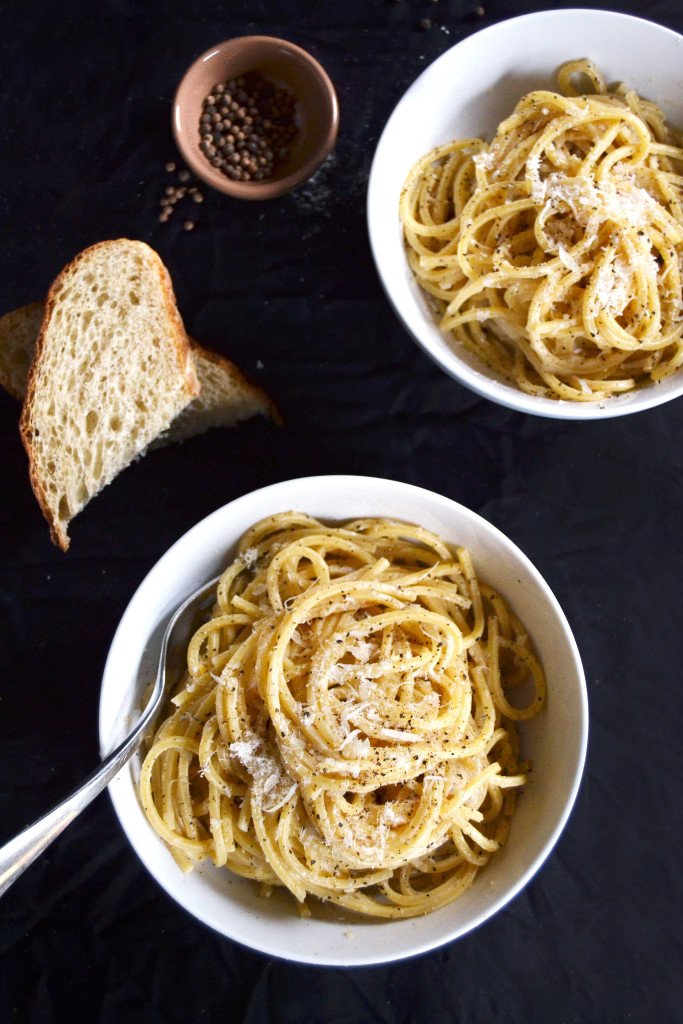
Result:
{"label": "small brownish-pink bowl around the peppercorns it holds", "polygon": [[[202,153],[200,118],[217,82],[250,71],[293,94],[299,132],[274,176],[233,181]],[[301,47],[271,36],[241,36],[212,46],[185,72],[173,101],[173,134],[184,162],[207,184],[238,199],[273,199],[301,184],[332,152],[338,128],[337,94],[325,70]]]}

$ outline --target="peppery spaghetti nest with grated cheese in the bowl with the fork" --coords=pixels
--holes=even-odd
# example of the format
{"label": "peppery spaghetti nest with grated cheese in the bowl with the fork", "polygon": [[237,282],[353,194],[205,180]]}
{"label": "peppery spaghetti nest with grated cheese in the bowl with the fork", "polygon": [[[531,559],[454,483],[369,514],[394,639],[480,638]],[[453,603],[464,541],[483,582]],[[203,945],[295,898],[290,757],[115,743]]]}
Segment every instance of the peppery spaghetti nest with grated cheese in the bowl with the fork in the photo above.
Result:
{"label": "peppery spaghetti nest with grated cheese in the bowl with the fork", "polygon": [[[460,895],[526,780],[545,679],[467,551],[419,526],[270,516],[243,537],[140,773],[186,870],[384,918]],[[308,908],[303,906],[304,912]]]}

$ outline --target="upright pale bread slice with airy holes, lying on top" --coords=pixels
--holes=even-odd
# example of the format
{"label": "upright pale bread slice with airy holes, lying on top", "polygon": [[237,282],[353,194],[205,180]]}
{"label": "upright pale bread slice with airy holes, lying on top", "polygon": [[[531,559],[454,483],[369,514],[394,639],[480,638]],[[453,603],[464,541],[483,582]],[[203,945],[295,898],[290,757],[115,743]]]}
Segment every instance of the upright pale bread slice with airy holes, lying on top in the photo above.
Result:
{"label": "upright pale bread slice with airy holes, lying on top", "polygon": [[168,270],[143,242],[99,242],[49,290],[19,430],[54,543],[200,392]]}

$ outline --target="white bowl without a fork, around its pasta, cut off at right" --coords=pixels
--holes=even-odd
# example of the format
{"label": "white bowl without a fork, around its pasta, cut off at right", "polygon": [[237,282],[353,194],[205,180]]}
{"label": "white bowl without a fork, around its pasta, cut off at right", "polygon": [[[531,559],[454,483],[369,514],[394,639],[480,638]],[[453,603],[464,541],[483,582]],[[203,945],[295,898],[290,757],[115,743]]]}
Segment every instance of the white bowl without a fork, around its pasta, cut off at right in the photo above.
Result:
{"label": "white bowl without a fork, around its pasta, cut off at right", "polygon": [[650,409],[683,393],[675,377],[604,402],[527,395],[464,348],[454,350],[434,323],[408,266],[398,198],[417,160],[454,138],[493,138],[517,100],[533,89],[557,90],[564,60],[590,57],[607,81],[623,80],[656,100],[683,128],[683,37],[659,25],[602,10],[549,10],[482,29],[430,65],[398,102],[375,153],[368,226],[377,269],[398,316],[447,374],[510,409],[558,419],[590,420]]}

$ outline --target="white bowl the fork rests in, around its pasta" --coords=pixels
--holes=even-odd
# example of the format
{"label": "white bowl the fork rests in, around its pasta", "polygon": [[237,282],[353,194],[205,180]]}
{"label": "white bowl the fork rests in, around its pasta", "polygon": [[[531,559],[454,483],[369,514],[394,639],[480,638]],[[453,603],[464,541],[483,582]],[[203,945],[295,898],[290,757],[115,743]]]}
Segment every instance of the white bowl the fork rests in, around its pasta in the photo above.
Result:
{"label": "white bowl the fork rests in, around its pasta", "polygon": [[161,886],[200,921],[271,956],[319,965],[398,959],[456,939],[511,900],[553,848],[581,780],[588,732],[586,683],[573,637],[556,599],[522,552],[474,512],[447,498],[392,480],[308,477],[275,483],[218,509],[184,535],[152,569],[117,630],[99,708],[102,754],[123,739],[154,676],[160,637],[174,608],[227,563],[240,536],[274,512],[295,509],[326,520],[391,516],[420,523],[471,552],[479,577],[500,590],[528,626],[548,677],[546,710],[520,730],[532,781],[510,837],[472,887],[450,906],[409,921],[361,921],[336,908],[299,918],[287,894],[265,899],[224,868],[183,874],[138,803],[137,763],[110,785],[130,843]]}

